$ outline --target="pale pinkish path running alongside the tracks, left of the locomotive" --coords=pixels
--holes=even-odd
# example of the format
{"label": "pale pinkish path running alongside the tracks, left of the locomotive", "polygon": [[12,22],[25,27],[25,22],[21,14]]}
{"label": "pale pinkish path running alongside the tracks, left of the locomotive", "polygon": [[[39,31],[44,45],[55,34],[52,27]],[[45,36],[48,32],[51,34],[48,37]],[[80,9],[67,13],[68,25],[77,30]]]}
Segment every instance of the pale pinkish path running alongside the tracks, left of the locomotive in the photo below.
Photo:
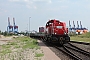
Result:
{"label": "pale pinkish path running alongside the tracks, left of the locomotive", "polygon": [[45,60],[61,60],[42,41],[38,40],[39,46],[43,50]]}

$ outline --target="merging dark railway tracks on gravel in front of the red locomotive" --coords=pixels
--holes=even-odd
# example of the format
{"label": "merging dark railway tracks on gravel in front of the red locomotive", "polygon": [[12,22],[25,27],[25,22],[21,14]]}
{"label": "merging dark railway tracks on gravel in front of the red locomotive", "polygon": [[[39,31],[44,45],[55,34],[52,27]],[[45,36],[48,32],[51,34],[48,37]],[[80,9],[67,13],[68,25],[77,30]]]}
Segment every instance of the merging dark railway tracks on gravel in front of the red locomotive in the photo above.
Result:
{"label": "merging dark railway tracks on gravel in front of the red locomotive", "polygon": [[64,44],[62,47],[53,45],[56,49],[63,52],[73,60],[90,60],[90,52],[84,51],[70,43]]}

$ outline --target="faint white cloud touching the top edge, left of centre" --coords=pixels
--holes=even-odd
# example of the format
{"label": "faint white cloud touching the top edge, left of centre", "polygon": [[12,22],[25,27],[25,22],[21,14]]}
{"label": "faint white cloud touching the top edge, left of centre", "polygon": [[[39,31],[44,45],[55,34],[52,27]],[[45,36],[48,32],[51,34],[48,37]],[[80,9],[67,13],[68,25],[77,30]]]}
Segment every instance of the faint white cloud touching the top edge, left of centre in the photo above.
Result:
{"label": "faint white cloud touching the top edge, left of centre", "polygon": [[27,8],[37,9],[36,2],[51,4],[52,0],[9,0],[10,2],[24,2]]}

